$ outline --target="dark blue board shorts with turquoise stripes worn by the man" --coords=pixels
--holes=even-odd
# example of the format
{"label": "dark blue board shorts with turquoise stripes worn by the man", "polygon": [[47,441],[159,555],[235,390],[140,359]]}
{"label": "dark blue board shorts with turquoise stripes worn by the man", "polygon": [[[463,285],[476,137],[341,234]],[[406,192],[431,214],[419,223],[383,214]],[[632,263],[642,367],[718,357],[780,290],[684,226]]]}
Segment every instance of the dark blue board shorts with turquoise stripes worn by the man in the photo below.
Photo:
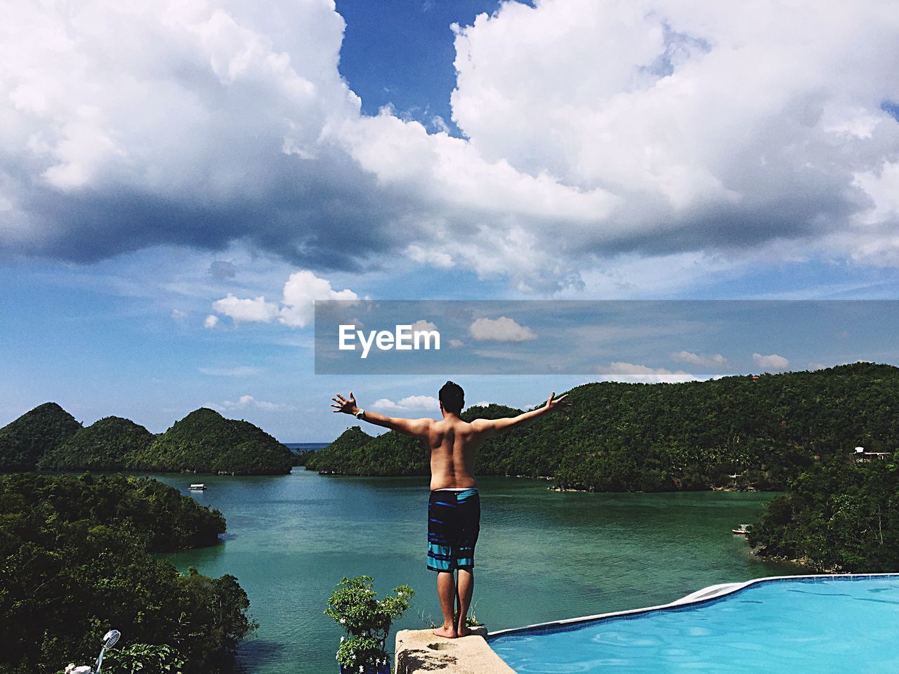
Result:
{"label": "dark blue board shorts with turquoise stripes worn by the man", "polygon": [[476,489],[435,489],[428,500],[428,568],[475,568],[481,530],[481,497]]}

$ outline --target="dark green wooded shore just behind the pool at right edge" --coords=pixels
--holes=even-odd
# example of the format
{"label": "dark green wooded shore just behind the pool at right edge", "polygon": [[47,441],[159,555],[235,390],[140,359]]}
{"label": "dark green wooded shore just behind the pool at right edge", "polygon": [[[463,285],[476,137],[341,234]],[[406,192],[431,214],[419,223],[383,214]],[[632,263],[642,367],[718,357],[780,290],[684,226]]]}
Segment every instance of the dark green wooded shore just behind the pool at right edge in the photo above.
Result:
{"label": "dark green wooded shore just behind the pool at right edge", "polygon": [[897,460],[815,462],[768,503],[750,544],[818,571],[899,571]]}

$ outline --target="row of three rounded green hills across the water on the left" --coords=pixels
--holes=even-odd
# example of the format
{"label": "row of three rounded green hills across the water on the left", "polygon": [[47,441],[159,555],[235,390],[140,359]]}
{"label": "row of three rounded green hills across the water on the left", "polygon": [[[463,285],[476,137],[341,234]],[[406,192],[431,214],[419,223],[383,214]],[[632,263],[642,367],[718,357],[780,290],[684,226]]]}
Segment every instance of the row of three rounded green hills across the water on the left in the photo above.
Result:
{"label": "row of three rounded green hills across the water on the left", "polygon": [[25,412],[0,429],[0,472],[152,470],[286,474],[294,454],[249,421],[206,407],[154,435],[134,421],[105,417],[82,428],[56,403]]}

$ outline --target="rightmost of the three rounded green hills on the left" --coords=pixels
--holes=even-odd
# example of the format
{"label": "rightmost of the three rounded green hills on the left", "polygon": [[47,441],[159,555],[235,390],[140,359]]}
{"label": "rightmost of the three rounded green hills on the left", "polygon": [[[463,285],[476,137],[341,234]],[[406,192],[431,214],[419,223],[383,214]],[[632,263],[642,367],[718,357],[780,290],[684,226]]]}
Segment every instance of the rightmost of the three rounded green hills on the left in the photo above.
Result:
{"label": "rightmost of the three rounded green hills on the left", "polygon": [[194,410],[156,436],[129,461],[142,470],[198,473],[286,474],[290,450],[249,421],[225,419],[207,407]]}

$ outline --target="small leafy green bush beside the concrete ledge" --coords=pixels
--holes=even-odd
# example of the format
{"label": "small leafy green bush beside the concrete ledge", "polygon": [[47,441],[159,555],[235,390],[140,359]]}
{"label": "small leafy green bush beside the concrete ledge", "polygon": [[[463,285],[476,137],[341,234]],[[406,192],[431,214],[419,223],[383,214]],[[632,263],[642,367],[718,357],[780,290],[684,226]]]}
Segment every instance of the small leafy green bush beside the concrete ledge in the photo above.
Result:
{"label": "small leafy green bush beside the concrete ledge", "polygon": [[346,631],[337,649],[341,671],[389,672],[387,634],[393,621],[402,617],[412,604],[415,591],[408,585],[395,588],[395,596],[378,599],[371,576],[344,577],[328,599],[325,616]]}

